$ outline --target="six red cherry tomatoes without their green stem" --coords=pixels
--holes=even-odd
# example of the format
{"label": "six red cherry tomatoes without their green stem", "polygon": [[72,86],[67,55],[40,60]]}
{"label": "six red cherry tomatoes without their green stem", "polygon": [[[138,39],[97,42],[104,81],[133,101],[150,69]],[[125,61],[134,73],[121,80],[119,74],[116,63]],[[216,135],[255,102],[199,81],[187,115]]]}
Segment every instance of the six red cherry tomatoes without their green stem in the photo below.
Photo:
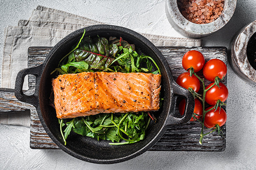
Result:
{"label": "six red cherry tomatoes without their green stem", "polygon": [[[223,77],[225,77],[225,75],[227,74],[227,66],[223,61],[221,61],[220,59],[210,59],[208,62],[205,63],[203,54],[201,54],[201,52],[199,51],[192,50],[188,51],[183,56],[182,66],[186,71],[188,71],[192,67],[195,73],[203,69],[204,78],[212,82],[205,88],[205,101],[209,105],[212,105],[211,107],[207,108],[206,111],[213,108],[218,100],[221,100],[222,102],[225,102],[227,100],[227,87],[223,83],[219,83],[219,87],[217,85],[214,85],[215,77],[223,79]],[[176,82],[183,88],[192,88],[196,93],[198,93],[200,89],[199,79],[194,74],[191,77],[189,72],[180,74]],[[184,114],[185,105],[186,101],[185,99],[183,99],[179,104],[179,112],[181,115]],[[197,115],[203,115],[203,112],[204,111],[201,102],[198,99],[195,99],[194,113]],[[197,119],[201,119],[201,116],[195,117]],[[216,124],[222,126],[225,124],[226,120],[227,114],[224,109],[219,107],[215,111],[214,108],[206,113],[204,125],[208,128],[214,127]],[[190,121],[194,121],[194,118],[192,117]]]}

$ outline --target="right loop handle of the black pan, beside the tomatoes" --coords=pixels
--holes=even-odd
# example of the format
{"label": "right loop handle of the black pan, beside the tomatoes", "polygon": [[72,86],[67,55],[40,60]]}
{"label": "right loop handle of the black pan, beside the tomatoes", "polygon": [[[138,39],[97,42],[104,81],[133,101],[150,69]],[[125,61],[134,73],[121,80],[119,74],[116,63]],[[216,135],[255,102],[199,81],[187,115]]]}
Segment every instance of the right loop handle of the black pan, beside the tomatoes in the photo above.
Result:
{"label": "right loop handle of the black pan, beside the tomatoes", "polygon": [[[193,112],[194,112],[194,107],[195,107],[195,99],[193,97],[193,95],[185,88],[180,87],[179,85],[177,85],[176,82],[172,83],[172,89],[174,92],[174,96],[173,99],[173,105],[172,105],[172,112],[169,114],[168,117],[168,124],[170,125],[180,125],[180,124],[185,124],[187,122],[189,122],[189,120],[191,119]],[[185,112],[183,114],[183,117],[178,118],[173,116],[174,112],[175,112],[175,106],[176,106],[176,102],[177,102],[177,96],[183,96],[186,98],[186,108],[185,108]]]}

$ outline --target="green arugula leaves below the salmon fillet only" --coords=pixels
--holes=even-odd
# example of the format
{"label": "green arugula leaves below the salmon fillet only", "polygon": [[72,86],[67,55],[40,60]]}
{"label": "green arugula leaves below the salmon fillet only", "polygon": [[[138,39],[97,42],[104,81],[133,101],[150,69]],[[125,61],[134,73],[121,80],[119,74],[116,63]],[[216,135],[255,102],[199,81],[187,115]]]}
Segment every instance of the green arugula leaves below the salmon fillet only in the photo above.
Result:
{"label": "green arugula leaves below the salmon fillet only", "polygon": [[[78,117],[66,123],[64,139],[67,139],[72,129],[83,136],[112,141],[112,145],[130,144],[144,139],[149,122],[150,117],[145,112],[101,113]],[[120,142],[122,139],[127,142]]]}

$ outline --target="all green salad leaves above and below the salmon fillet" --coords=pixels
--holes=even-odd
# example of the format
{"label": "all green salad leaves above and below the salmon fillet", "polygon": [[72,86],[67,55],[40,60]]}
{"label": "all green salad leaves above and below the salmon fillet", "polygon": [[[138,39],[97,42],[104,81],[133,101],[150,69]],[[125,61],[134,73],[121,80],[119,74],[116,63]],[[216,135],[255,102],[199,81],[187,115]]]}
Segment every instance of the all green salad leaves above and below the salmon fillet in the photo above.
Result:
{"label": "all green salad leaves above and below the salmon fillet", "polygon": [[[116,37],[91,38],[84,37],[84,34],[73,50],[61,59],[58,68],[51,74],[83,71],[160,74],[160,69],[154,59],[137,54],[135,46],[122,40],[121,37],[119,39]],[[71,131],[97,140],[109,140],[112,142],[109,143],[111,145],[120,145],[143,140],[151,119],[155,120],[149,112],[99,113],[73,119],[59,119],[59,124],[65,145]]]}

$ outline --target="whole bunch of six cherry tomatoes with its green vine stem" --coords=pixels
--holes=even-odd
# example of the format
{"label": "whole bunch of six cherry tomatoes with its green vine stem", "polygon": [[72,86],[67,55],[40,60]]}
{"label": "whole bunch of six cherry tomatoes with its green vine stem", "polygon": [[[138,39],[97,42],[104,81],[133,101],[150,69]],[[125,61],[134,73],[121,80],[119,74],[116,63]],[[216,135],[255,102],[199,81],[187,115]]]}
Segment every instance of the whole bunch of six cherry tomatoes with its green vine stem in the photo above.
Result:
{"label": "whole bunch of six cherry tomatoes with its green vine stem", "polygon": [[[182,59],[183,68],[186,73],[180,74],[176,82],[183,88],[188,89],[195,100],[199,99],[202,102],[202,114],[198,113],[198,104],[195,104],[192,121],[196,120],[201,123],[201,134],[199,143],[202,144],[204,136],[218,131],[218,134],[223,136],[221,126],[226,123],[227,113],[221,107],[226,105],[224,102],[228,96],[227,87],[221,83],[227,74],[227,66],[220,59],[210,59],[205,63],[204,56],[199,51],[188,51]],[[201,78],[196,74],[198,71],[203,70],[204,78]],[[186,76],[184,76],[186,75]],[[193,78],[192,78],[193,77]],[[211,81],[207,87],[205,79]],[[190,80],[190,81],[188,81]],[[200,84],[203,86],[203,94],[198,94]],[[195,84],[198,88],[195,88]],[[206,103],[211,105],[206,108]],[[184,104],[180,102],[180,108],[184,109]],[[201,107],[201,106],[200,106]],[[182,111],[180,111],[182,112]],[[182,113],[180,113],[183,115]],[[204,133],[205,127],[209,130]]]}

